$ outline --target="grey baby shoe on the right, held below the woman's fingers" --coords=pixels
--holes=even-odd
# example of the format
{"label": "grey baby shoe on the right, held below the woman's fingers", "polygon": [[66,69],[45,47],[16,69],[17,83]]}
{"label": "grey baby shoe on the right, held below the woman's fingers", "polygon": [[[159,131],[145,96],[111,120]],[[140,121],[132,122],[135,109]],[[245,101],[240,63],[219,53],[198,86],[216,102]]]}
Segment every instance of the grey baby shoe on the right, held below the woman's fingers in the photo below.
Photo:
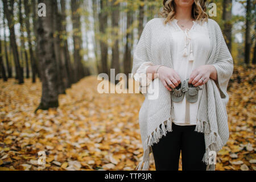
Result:
{"label": "grey baby shoe on the right, held below the woman's fingers", "polygon": [[186,100],[190,103],[195,103],[198,99],[199,90],[202,90],[199,86],[193,86],[192,84],[188,84],[188,78],[184,84],[184,91]]}

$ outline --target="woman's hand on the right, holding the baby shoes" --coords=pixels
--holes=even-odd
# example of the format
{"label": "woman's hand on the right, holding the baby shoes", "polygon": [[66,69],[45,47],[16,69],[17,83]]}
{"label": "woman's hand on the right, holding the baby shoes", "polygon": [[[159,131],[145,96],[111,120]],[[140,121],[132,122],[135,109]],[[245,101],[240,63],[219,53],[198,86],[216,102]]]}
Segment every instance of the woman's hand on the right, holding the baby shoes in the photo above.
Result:
{"label": "woman's hand on the right, holding the baby shoes", "polygon": [[201,65],[200,67],[193,69],[189,77],[188,83],[193,86],[204,85],[213,72],[213,65]]}

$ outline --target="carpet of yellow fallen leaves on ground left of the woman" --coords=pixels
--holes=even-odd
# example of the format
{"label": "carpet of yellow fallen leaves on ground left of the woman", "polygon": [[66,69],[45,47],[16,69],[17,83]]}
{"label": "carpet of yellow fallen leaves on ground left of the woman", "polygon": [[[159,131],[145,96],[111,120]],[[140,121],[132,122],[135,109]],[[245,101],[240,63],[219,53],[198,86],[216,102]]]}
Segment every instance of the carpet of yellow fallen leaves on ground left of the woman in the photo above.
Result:
{"label": "carpet of yellow fallen leaves on ground left of the woman", "polygon": [[[7,159],[15,169],[35,164],[39,151],[46,151],[45,169],[103,166],[131,170],[137,166],[143,153],[138,123],[142,94],[100,94],[100,81],[90,76],[60,95],[57,109],[34,114],[40,102],[41,83],[15,82],[1,80],[0,158],[8,154],[1,159],[5,167],[10,167]],[[40,165],[28,167],[43,169]]]}

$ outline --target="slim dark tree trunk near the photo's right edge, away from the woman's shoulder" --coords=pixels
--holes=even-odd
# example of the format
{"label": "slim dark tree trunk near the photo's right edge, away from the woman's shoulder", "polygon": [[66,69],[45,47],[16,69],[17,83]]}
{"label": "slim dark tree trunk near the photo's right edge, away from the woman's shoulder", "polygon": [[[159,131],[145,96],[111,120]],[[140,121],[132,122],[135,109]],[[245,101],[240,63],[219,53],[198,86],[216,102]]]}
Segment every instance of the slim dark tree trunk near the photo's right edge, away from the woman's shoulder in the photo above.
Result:
{"label": "slim dark tree trunk near the photo's right edge, away from the woman's shoulder", "polygon": [[250,49],[251,49],[251,38],[250,38],[250,24],[251,24],[251,1],[247,0],[246,5],[246,30],[245,30],[245,63],[250,63]]}

